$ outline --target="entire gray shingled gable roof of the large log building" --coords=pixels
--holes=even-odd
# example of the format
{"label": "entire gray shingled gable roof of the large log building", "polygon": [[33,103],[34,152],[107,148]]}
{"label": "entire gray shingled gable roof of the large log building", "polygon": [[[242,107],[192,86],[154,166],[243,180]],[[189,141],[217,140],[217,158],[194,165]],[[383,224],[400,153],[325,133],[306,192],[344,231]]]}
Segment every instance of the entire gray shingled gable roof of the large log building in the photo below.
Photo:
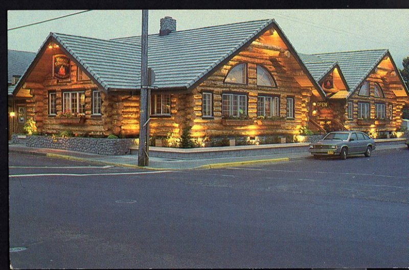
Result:
{"label": "entire gray shingled gable roof of the large log building", "polygon": [[[167,36],[149,35],[148,66],[156,73],[153,86],[160,89],[191,88],[272,26],[281,33],[307,77],[325,97],[274,19],[175,31]],[[141,36],[102,40],[50,33],[27,70],[35,66],[51,41],[59,44],[61,51],[70,55],[104,90],[140,89]],[[27,70],[25,77],[29,73]],[[20,84],[17,86],[21,87]]]}

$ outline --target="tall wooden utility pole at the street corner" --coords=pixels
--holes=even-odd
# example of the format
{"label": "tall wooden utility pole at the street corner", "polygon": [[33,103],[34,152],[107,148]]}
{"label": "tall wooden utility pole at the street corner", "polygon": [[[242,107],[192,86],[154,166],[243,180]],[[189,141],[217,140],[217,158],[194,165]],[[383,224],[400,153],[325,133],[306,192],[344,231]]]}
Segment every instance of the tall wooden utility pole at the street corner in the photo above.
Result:
{"label": "tall wooden utility pole at the street corner", "polygon": [[148,10],[142,10],[141,95],[138,166],[149,165]]}

